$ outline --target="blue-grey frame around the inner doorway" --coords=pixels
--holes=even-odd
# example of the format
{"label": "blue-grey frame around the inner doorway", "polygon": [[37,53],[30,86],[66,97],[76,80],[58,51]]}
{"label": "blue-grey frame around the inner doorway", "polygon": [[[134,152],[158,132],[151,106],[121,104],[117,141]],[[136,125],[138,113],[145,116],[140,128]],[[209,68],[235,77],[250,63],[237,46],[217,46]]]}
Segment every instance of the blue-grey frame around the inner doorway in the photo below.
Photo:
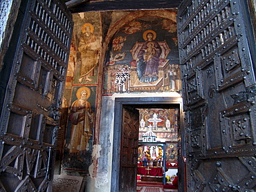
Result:
{"label": "blue-grey frame around the inner doorway", "polygon": [[[181,140],[183,122],[182,113],[182,98],[181,97],[133,97],[133,98],[116,98],[115,100],[115,117],[114,117],[114,133],[113,133],[113,161],[112,161],[112,178],[111,178],[111,191],[125,191],[120,187],[122,185],[122,180],[120,179],[120,174],[122,174],[122,164],[121,161],[121,148],[122,148],[122,111],[123,108],[179,108],[179,135],[178,135],[178,164],[179,164],[179,185],[181,188],[185,186],[184,184],[184,162],[182,154],[183,144]],[[130,175],[130,174],[129,174]],[[134,175],[134,180],[136,180],[136,174]],[[134,181],[131,180],[131,181]],[[127,181],[126,181],[127,182]],[[126,183],[127,184],[127,183]],[[133,184],[132,184],[133,185]],[[136,189],[136,186],[134,186]],[[180,189],[184,191],[183,189]]]}

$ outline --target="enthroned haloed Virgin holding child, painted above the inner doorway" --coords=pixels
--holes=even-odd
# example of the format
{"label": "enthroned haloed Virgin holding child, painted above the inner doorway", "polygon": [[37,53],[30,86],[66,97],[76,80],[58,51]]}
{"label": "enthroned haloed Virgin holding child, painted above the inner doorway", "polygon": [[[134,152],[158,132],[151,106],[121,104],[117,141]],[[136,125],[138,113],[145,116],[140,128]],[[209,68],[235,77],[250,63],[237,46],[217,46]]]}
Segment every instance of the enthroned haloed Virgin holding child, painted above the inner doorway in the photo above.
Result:
{"label": "enthroned haloed Virgin holding child, painted above the inner doorway", "polygon": [[150,83],[158,80],[159,57],[162,49],[156,39],[154,30],[147,30],[143,33],[145,42],[140,48],[137,57],[137,74],[139,83]]}

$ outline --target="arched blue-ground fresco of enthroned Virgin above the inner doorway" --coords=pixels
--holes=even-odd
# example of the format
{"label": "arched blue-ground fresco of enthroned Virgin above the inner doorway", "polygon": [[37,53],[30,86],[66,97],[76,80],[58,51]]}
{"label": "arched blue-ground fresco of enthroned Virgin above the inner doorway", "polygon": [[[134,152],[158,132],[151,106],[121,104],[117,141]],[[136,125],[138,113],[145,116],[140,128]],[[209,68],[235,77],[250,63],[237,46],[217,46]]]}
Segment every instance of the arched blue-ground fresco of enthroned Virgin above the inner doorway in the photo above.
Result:
{"label": "arched blue-ground fresco of enthroned Virgin above the inner doorway", "polygon": [[135,19],[114,35],[109,50],[104,94],[181,90],[176,19]]}

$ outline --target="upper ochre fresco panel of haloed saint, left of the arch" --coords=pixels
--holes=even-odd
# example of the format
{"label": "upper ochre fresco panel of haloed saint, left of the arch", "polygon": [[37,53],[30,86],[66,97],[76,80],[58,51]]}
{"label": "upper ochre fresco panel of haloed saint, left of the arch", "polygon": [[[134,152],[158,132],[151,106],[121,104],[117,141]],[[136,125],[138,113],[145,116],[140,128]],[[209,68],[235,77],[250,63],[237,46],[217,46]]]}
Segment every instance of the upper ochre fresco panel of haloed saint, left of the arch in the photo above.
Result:
{"label": "upper ochre fresco panel of haloed saint, left of the arch", "polygon": [[97,84],[102,41],[100,13],[73,14],[75,26],[68,62],[66,87]]}

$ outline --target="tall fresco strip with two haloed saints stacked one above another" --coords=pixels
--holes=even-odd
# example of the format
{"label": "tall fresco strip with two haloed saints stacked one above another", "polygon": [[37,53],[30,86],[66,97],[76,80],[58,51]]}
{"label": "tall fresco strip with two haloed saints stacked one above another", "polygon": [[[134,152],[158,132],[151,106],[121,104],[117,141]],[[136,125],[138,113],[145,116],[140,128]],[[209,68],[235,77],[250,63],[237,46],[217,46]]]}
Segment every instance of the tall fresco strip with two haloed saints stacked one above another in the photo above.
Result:
{"label": "tall fresco strip with two haloed saints stacked one above another", "polygon": [[[88,175],[95,130],[96,90],[101,48],[100,12],[73,14],[75,22],[64,97],[62,173]],[[62,136],[60,135],[60,137]]]}

